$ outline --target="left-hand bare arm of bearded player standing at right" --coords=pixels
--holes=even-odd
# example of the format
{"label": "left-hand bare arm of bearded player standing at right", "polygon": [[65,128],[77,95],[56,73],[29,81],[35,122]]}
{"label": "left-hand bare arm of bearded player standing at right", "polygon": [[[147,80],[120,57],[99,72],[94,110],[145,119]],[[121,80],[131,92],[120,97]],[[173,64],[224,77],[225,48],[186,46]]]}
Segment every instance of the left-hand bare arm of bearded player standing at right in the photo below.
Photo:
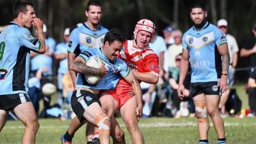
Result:
{"label": "left-hand bare arm of bearded player standing at right", "polygon": [[187,75],[187,70],[188,70],[188,65],[189,65],[189,50],[182,50],[182,58],[180,61],[180,76],[179,76],[179,85],[183,85],[184,80]]}

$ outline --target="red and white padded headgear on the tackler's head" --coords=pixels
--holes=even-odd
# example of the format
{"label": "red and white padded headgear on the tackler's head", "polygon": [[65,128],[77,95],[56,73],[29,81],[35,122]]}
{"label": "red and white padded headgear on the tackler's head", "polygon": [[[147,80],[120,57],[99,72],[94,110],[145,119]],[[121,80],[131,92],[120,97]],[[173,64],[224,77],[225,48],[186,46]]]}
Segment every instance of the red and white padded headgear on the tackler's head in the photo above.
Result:
{"label": "red and white padded headgear on the tackler's head", "polygon": [[139,31],[148,31],[152,34],[152,37],[151,37],[151,40],[152,40],[155,35],[155,29],[156,29],[156,26],[154,22],[152,22],[151,20],[148,20],[148,19],[139,20],[134,29],[134,39],[137,39],[137,34]]}

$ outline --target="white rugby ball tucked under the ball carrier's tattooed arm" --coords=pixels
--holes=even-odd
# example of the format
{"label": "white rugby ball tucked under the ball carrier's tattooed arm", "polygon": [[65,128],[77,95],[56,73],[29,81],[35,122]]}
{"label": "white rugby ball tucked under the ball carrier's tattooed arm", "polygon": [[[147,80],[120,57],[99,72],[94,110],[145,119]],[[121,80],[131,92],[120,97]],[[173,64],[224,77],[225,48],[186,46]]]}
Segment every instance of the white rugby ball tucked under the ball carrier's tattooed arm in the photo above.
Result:
{"label": "white rugby ball tucked under the ball carrier's tattooed arm", "polygon": [[[87,66],[91,66],[94,68],[100,68],[100,66],[103,64],[102,59],[98,55],[91,56],[88,61],[86,62]],[[89,85],[95,85],[100,80],[100,76],[98,75],[89,75],[85,74],[85,80]]]}

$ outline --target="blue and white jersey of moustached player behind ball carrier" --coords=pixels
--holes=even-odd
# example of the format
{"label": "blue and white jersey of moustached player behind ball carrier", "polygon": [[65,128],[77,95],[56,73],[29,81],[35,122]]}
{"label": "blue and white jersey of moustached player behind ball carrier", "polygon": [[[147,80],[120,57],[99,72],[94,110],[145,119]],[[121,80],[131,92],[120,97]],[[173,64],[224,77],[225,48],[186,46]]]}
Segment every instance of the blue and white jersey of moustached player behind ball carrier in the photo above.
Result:
{"label": "blue and white jersey of moustached player behind ball carrier", "polygon": [[105,34],[108,29],[98,25],[98,30],[91,30],[85,23],[72,30],[69,37],[68,52],[79,55],[87,48],[100,48],[103,46]]}

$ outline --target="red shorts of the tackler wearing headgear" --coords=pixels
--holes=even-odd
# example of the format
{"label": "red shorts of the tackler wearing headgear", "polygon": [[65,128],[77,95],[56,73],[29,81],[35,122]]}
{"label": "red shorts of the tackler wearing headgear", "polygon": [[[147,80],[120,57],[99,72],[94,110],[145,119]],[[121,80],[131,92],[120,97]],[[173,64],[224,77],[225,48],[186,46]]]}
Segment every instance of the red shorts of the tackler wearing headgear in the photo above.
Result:
{"label": "red shorts of the tackler wearing headgear", "polygon": [[130,98],[134,96],[134,90],[132,87],[125,87],[117,85],[115,89],[103,90],[102,92],[106,92],[113,96],[113,98],[117,101],[119,109],[126,103]]}

